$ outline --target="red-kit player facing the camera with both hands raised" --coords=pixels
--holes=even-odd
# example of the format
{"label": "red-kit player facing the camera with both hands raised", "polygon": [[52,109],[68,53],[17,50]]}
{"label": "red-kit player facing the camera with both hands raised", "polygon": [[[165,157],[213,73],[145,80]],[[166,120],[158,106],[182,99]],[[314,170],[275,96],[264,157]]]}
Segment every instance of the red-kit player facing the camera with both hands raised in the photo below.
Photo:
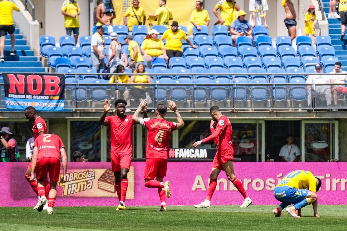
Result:
{"label": "red-kit player facing the camera with both hands raised", "polygon": [[[102,113],[99,124],[110,127],[111,130],[111,165],[113,174],[116,178],[116,191],[119,199],[117,210],[125,210],[125,196],[128,189],[128,172],[131,159],[133,157],[133,125],[132,115],[125,114],[127,102],[118,99],[115,102],[117,115],[109,115],[107,112],[112,104],[108,100],[104,102],[104,112]],[[147,118],[147,108],[143,110],[144,117]]]}

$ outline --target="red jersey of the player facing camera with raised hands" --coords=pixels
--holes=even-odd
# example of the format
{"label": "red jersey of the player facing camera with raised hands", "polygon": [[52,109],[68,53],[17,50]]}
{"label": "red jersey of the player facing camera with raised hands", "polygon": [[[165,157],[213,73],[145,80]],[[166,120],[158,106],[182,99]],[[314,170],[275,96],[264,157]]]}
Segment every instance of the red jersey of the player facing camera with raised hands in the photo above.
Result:
{"label": "red jersey of the player facing camera with raised hands", "polygon": [[133,152],[133,115],[106,117],[111,129],[111,152]]}

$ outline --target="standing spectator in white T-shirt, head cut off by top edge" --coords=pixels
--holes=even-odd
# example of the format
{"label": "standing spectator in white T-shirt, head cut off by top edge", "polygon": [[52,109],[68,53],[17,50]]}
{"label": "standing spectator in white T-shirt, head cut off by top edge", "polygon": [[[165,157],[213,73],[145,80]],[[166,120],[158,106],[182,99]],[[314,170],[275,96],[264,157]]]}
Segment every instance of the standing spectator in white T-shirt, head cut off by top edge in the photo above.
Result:
{"label": "standing spectator in white T-shirt, head cut off by top edge", "polygon": [[251,11],[249,24],[252,29],[254,26],[260,25],[264,25],[269,29],[268,24],[266,24],[266,11],[268,9],[268,1],[266,0],[249,0],[249,11]]}

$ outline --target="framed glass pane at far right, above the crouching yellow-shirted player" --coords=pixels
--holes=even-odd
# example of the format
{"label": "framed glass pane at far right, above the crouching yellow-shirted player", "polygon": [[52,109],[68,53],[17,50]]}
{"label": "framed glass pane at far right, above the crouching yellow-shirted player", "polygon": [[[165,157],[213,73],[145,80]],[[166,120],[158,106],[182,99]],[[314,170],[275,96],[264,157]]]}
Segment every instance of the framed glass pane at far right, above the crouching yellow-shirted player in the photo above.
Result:
{"label": "framed glass pane at far right, above the crouching yellow-shirted player", "polygon": [[303,161],[338,159],[338,121],[302,121]]}

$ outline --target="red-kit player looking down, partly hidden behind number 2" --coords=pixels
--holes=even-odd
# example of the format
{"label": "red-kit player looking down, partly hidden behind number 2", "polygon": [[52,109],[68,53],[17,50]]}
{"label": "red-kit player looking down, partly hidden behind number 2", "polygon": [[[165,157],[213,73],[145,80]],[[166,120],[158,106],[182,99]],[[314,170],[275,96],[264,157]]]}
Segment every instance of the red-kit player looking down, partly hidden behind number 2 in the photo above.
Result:
{"label": "red-kit player looking down, partly hidden behind number 2", "polygon": [[[24,114],[25,117],[30,121],[30,122],[34,122],[34,126],[33,126],[33,133],[34,133],[34,139],[36,139],[39,135],[41,134],[46,134],[47,133],[47,126],[46,126],[46,122],[44,121],[44,119],[42,119],[41,116],[36,114],[36,110],[34,107],[32,106],[28,106],[25,110],[24,110]],[[31,157],[29,157],[29,160],[31,161]],[[31,162],[28,165],[28,168],[26,169],[26,173],[24,174],[24,178],[30,183],[31,188],[34,190],[34,192],[36,193],[37,197],[39,198],[39,201],[37,202],[36,206],[34,207],[34,209],[37,209],[39,203],[40,203],[40,196],[39,196],[39,192],[37,191],[37,181],[29,181],[30,179],[30,173],[31,173]],[[49,181],[48,178],[46,177],[44,179],[44,183],[45,183],[45,190],[46,190],[46,197],[48,197],[49,194]],[[48,204],[44,206],[44,209],[48,208]]]}

